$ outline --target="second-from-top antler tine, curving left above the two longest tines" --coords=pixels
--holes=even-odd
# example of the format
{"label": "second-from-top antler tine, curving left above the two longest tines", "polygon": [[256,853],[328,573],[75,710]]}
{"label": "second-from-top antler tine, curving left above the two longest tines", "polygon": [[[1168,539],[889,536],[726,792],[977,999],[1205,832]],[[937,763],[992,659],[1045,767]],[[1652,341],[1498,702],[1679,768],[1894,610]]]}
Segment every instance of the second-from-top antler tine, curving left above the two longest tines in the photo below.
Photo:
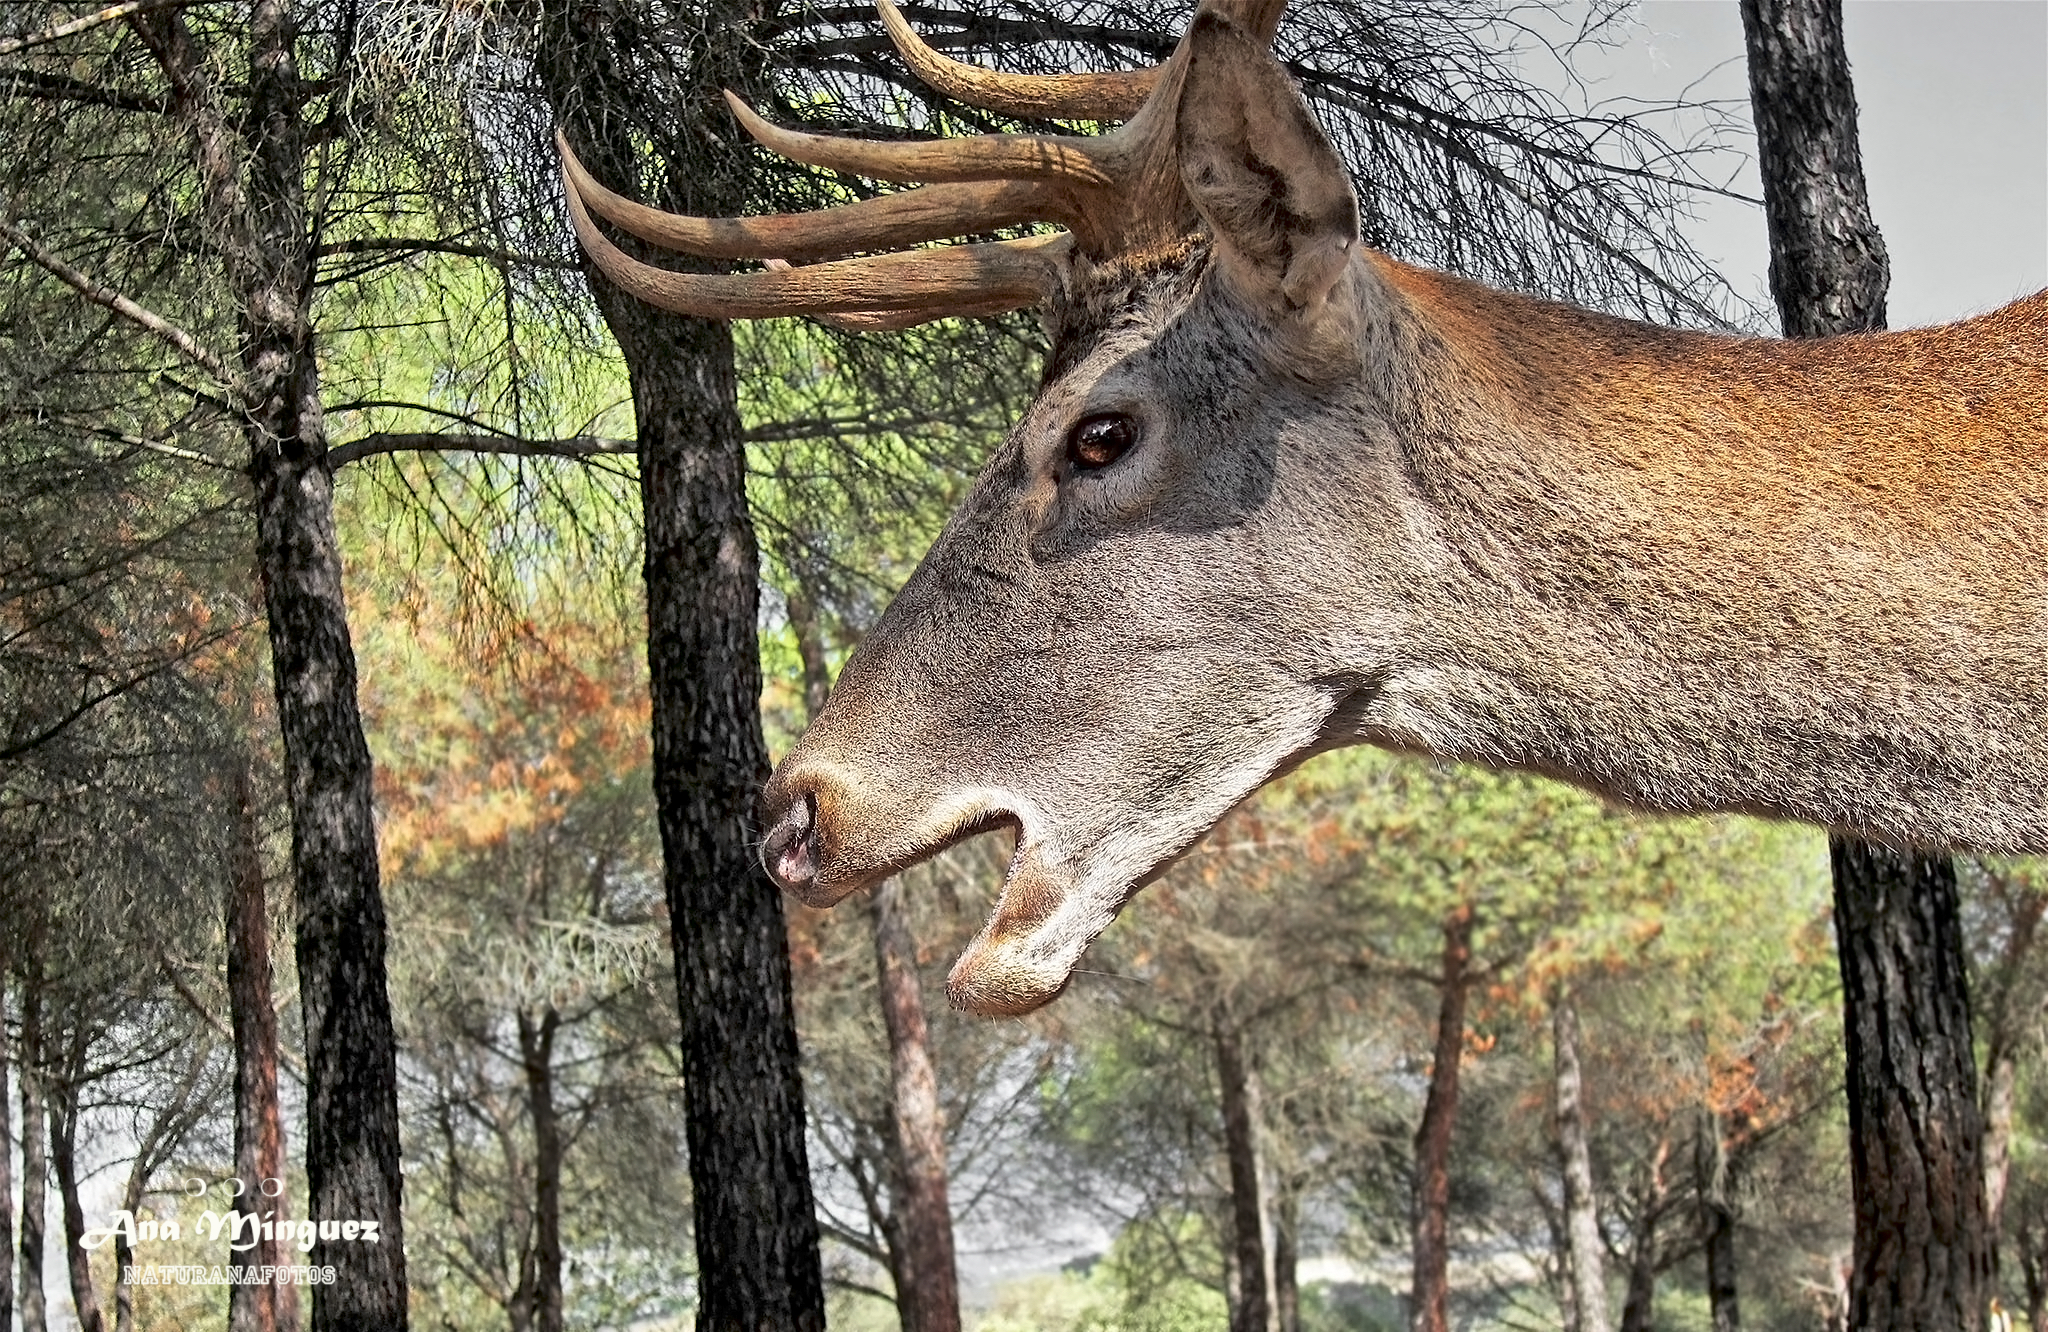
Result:
{"label": "second-from-top antler tine, curving left above the two longest tines", "polygon": [[874,180],[1069,180],[1114,182],[1106,162],[1110,139],[1069,135],[981,133],[965,139],[868,143],[770,125],[743,100],[725,94],[750,135],[784,158]]}

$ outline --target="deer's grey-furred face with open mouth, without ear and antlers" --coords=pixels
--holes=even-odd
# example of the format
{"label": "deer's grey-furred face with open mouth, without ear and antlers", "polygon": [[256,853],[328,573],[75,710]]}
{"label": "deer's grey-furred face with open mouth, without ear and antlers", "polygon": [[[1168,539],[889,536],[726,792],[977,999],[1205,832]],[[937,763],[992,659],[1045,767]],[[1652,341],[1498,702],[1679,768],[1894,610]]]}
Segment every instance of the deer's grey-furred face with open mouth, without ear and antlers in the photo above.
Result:
{"label": "deer's grey-furred face with open mouth, without ear and antlers", "polygon": [[[1370,678],[1333,664],[1372,660],[1372,617],[1333,619],[1300,572],[1331,561],[1331,529],[1391,518],[1331,512],[1372,459],[1321,457],[1311,441],[1356,422],[1206,268],[1190,246],[1081,279],[1085,297],[1055,311],[1044,393],[770,791],[825,811],[817,873],[782,875],[813,900],[963,830],[1018,828],[977,945],[1001,965],[956,977],[977,1010],[1057,992],[1128,893],[1325,744]],[[1069,432],[1104,414],[1133,418],[1137,443],[1079,469]],[[856,805],[872,836],[836,832]]]}

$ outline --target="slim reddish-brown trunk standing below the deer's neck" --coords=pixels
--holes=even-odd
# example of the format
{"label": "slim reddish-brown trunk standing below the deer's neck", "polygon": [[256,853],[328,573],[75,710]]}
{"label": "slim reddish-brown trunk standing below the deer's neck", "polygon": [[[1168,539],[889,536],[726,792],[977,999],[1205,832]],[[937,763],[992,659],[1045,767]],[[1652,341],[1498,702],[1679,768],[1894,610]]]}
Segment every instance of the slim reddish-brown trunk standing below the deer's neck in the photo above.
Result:
{"label": "slim reddish-brown trunk standing below the deer's neck", "polygon": [[1436,1057],[1430,1096],[1415,1129],[1415,1279],[1409,1293],[1413,1332],[1450,1332],[1450,1129],[1458,1119],[1458,1062],[1464,1055],[1464,994],[1470,988],[1473,908],[1444,916],[1438,971]]}

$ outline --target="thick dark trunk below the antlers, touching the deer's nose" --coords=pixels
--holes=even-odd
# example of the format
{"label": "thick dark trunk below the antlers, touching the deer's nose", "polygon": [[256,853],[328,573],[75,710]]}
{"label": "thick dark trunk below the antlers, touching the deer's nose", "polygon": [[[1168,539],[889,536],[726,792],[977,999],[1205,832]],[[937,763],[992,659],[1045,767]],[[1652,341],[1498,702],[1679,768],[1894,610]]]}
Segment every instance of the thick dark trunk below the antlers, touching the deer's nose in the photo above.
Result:
{"label": "thick dark trunk below the antlers, touching the deer's nose", "polygon": [[653,771],[682,1010],[698,1328],[821,1330],[782,898],[754,855],[768,754],[731,330],[618,293],[604,305],[639,416]]}

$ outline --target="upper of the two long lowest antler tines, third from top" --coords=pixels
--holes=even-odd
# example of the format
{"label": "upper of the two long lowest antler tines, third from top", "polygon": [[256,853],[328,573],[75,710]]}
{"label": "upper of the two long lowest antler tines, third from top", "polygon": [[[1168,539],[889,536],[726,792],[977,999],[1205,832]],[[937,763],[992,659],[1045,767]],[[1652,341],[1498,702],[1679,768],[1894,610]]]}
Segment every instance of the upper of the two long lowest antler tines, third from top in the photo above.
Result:
{"label": "upper of the two long lowest antler tines, third from top", "polygon": [[817,213],[690,217],[664,213],[608,191],[557,129],[555,150],[569,186],[604,221],[684,254],[705,258],[813,260],[993,232],[1026,221],[1061,221],[1071,209],[1042,180],[926,184]]}

